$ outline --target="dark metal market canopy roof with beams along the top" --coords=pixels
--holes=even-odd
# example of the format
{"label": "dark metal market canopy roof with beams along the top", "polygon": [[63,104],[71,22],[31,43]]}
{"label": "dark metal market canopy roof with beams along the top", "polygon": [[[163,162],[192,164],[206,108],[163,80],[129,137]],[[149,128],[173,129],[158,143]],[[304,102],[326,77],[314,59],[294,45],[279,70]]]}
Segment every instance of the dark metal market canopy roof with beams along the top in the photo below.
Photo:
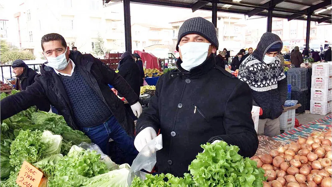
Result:
{"label": "dark metal market canopy roof with beams along the top", "polygon": [[[273,17],[285,18],[288,21],[306,20],[331,23],[331,0],[130,0],[132,3],[168,7],[190,8],[212,11],[212,3],[217,4],[217,11],[250,16],[268,16],[273,9]],[[176,14],[176,12],[174,12]],[[166,15],[167,16],[167,15]]]}

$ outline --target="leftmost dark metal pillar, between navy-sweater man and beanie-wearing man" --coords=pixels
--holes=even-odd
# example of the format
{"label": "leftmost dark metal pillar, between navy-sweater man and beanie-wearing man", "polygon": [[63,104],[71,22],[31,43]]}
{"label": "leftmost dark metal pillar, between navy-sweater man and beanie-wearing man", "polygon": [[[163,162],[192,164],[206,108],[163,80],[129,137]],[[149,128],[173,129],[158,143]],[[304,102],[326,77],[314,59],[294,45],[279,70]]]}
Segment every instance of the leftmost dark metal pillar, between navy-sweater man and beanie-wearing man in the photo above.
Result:
{"label": "leftmost dark metal pillar, between navy-sweater man and beanie-wearing man", "polygon": [[131,51],[131,23],[130,23],[130,0],[123,0],[124,2],[124,43],[125,50]]}

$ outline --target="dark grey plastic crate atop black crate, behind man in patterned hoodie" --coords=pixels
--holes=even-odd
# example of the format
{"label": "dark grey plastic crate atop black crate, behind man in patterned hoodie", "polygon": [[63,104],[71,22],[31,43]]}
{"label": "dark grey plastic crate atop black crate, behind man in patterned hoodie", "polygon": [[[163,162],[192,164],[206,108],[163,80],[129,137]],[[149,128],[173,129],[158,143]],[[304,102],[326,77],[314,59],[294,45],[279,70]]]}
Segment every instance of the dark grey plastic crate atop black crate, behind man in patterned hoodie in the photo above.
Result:
{"label": "dark grey plastic crate atop black crate, behind man in patterned hoodie", "polygon": [[291,68],[288,70],[287,82],[291,84],[291,91],[304,91],[307,86],[307,68]]}

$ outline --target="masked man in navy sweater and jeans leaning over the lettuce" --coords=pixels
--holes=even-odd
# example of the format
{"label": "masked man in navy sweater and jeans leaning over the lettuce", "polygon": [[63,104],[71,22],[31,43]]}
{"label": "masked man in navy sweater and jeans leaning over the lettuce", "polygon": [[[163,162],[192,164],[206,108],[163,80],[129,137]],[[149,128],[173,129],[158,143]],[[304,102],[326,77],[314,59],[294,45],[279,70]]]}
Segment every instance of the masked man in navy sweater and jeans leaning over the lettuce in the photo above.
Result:
{"label": "masked man in navy sweater and jeans leaning over the lettuce", "polygon": [[99,59],[91,54],[70,51],[59,34],[44,35],[41,48],[47,59],[41,66],[41,75],[37,75],[35,82],[25,91],[1,100],[1,119],[46,98],[68,126],[84,132],[105,154],[110,155],[109,140],[113,139],[123,151],[124,158],[112,160],[118,164],[131,164],[138,154],[133,145],[134,123],[125,111],[123,101],[108,84],[124,95],[138,117],[142,108],[135,92],[123,77]]}

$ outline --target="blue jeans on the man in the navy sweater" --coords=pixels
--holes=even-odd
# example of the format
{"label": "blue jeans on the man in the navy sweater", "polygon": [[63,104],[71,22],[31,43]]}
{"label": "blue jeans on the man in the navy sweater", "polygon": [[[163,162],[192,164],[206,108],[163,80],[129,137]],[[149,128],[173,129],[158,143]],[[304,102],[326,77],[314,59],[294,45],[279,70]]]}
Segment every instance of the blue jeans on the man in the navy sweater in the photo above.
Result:
{"label": "blue jeans on the man in the navy sweater", "polygon": [[82,128],[93,143],[97,144],[100,149],[107,155],[110,155],[110,138],[114,140],[117,146],[122,150],[124,158],[112,158],[117,164],[117,160],[123,160],[125,163],[132,164],[136,158],[138,151],[134,147],[134,139],[129,137],[120,123],[112,116],[108,121],[94,127]]}

